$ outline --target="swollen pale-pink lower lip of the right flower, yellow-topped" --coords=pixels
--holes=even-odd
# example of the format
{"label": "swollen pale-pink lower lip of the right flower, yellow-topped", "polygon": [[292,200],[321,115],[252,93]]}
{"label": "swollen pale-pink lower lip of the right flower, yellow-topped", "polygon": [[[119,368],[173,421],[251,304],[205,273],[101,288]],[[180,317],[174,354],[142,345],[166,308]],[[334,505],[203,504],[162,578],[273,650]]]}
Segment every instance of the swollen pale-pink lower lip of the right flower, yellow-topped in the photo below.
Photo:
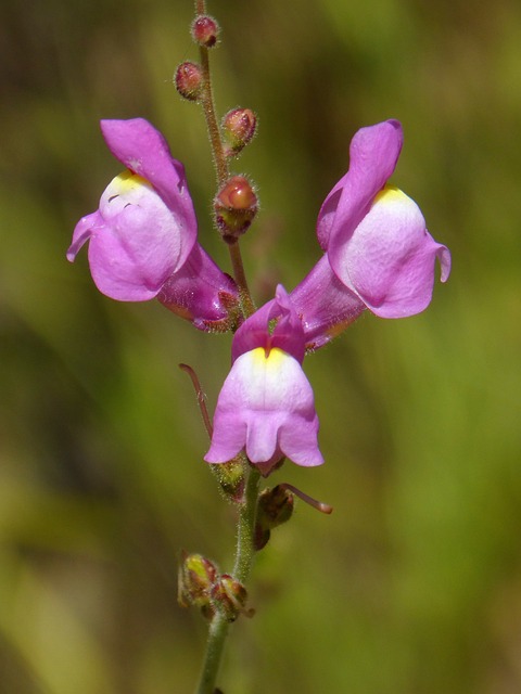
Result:
{"label": "swollen pale-pink lower lip of the right flower, yellow-topped", "polygon": [[436,257],[448,278],[450,254],[425,229],[417,204],[385,188],[350,235],[331,237],[329,259],[340,280],[381,318],[419,313],[429,305]]}

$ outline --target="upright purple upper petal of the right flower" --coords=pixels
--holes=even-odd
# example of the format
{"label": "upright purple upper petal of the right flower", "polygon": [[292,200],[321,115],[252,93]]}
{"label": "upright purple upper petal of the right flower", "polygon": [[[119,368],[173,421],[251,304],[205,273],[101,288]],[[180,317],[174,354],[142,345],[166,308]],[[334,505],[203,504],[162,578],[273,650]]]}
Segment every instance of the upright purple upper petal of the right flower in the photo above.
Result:
{"label": "upright purple upper petal of the right flower", "polygon": [[377,193],[394,171],[403,144],[402,126],[384,120],[361,128],[350,147],[350,170],[326,197],[317,220],[317,236],[326,250],[330,235],[350,235]]}

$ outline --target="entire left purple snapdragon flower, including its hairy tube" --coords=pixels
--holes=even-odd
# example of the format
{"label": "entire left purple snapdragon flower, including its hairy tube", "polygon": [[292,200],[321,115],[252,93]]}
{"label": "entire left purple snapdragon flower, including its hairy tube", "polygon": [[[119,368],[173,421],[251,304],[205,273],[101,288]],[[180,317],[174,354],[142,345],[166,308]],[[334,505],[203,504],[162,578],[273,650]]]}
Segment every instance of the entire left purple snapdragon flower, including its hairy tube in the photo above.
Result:
{"label": "entire left purple snapdragon flower, including its hairy tube", "polygon": [[105,189],[99,209],[76,224],[68,260],[89,241],[90,271],[100,292],[120,301],[158,297],[198,327],[215,327],[237,304],[237,288],[196,243],[182,164],[142,118],[102,120],[101,129],[127,169]]}

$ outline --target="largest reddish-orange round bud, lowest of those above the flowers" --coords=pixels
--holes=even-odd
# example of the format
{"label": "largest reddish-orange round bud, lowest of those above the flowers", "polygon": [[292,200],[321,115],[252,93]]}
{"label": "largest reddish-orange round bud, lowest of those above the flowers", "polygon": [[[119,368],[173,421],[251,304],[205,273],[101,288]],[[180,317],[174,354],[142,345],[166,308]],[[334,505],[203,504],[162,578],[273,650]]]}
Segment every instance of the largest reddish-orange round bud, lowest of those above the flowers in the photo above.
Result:
{"label": "largest reddish-orange round bud, lowest of those above the flowers", "polygon": [[257,213],[257,196],[243,176],[232,176],[214,201],[215,222],[227,243],[234,243]]}

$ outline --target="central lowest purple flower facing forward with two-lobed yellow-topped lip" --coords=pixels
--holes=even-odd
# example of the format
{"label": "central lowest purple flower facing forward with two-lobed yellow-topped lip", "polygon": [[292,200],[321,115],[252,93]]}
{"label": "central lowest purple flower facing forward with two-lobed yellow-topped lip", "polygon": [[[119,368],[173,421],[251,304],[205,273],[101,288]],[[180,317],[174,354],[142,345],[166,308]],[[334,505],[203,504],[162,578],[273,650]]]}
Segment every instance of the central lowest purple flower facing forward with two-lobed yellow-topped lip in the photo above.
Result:
{"label": "central lowest purple flower facing forward with two-lobed yellow-topped lip", "polygon": [[313,389],[301,367],[304,351],[302,322],[279,285],[275,300],[234,335],[233,364],[217,401],[206,462],[227,462],[242,449],[264,475],[284,457],[306,466],[323,462]]}

